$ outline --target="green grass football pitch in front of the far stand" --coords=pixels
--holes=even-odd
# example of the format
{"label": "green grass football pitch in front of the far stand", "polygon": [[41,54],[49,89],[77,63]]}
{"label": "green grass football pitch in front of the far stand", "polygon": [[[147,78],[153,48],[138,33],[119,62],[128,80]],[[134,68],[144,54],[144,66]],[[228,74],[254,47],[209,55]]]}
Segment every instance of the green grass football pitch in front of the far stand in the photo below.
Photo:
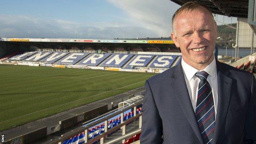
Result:
{"label": "green grass football pitch in front of the far stand", "polygon": [[153,75],[0,64],[0,131],[141,87]]}

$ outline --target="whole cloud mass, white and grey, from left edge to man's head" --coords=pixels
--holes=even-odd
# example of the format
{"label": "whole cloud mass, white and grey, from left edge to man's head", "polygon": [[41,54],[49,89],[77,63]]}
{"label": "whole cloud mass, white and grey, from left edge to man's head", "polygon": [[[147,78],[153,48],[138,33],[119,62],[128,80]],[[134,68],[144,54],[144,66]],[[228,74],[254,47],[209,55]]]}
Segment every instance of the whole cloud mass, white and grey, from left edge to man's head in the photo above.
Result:
{"label": "whole cloud mass, white and grey, from left edge to man's head", "polygon": [[113,39],[169,37],[178,5],[170,0],[108,0],[123,10],[115,21],[73,22],[57,18],[0,14],[0,37]]}

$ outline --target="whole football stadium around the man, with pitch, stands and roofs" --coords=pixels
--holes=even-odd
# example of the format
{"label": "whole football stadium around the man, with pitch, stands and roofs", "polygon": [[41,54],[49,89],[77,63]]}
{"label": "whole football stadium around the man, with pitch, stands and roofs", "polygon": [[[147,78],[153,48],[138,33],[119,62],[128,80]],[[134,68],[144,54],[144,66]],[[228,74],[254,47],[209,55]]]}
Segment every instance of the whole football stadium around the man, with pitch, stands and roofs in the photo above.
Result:
{"label": "whole football stadium around the man, with pitch, stands and roofs", "polygon": [[[183,5],[188,0],[171,1]],[[255,73],[256,22],[251,14],[256,12],[248,10],[252,0],[241,1],[199,2],[213,14],[238,17],[235,56],[223,58],[215,50],[216,59]],[[251,48],[251,54],[238,58],[239,47]],[[181,59],[171,38],[2,37],[1,142],[139,144],[145,81]]]}

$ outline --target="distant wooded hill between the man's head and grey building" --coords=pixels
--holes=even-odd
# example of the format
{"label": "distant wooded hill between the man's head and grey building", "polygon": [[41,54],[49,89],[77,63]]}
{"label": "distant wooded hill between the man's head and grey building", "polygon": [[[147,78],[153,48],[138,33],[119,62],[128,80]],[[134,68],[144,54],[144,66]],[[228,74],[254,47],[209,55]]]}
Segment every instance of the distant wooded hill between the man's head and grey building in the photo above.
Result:
{"label": "distant wooded hill between the man's head and grey building", "polygon": [[[231,24],[229,24],[231,26]],[[236,23],[232,23],[232,27],[236,27]],[[217,26],[217,41],[216,44],[219,48],[231,48],[232,43],[235,44],[236,29],[227,25]]]}

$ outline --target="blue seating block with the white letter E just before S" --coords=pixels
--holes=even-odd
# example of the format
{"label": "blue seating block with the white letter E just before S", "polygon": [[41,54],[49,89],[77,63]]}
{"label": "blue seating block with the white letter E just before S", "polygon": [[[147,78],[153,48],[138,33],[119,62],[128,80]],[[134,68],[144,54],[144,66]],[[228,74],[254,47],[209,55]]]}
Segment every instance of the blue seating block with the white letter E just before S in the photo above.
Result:
{"label": "blue seating block with the white letter E just before S", "polygon": [[134,67],[144,67],[149,64],[154,56],[155,55],[135,55],[134,59],[129,62],[125,68],[133,69]]}

